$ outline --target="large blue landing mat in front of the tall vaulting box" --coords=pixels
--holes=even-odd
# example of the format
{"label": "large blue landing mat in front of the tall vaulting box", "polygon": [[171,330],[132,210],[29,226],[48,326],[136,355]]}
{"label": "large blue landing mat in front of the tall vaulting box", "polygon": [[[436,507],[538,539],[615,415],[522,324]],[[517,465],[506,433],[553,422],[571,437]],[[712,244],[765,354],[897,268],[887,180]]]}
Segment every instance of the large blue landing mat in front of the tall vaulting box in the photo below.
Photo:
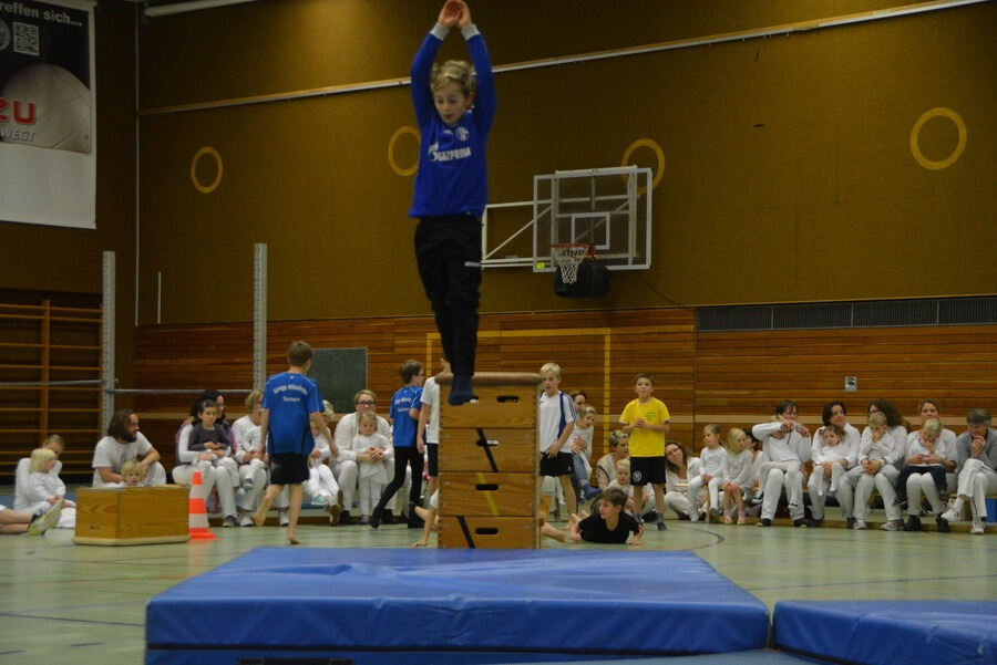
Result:
{"label": "large blue landing mat in front of the tall vaulting box", "polygon": [[765,645],[763,603],[688,552],[257,548],[153,598],[147,664],[496,663]]}

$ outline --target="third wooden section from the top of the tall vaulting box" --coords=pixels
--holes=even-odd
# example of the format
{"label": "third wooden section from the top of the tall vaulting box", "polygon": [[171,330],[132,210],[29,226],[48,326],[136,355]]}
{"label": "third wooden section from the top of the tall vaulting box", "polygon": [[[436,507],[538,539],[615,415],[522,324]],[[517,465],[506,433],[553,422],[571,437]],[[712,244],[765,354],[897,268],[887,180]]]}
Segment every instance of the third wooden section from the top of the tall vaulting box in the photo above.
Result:
{"label": "third wooden section from the top of the tall vaulting box", "polygon": [[443,474],[440,515],[536,517],[533,474]]}

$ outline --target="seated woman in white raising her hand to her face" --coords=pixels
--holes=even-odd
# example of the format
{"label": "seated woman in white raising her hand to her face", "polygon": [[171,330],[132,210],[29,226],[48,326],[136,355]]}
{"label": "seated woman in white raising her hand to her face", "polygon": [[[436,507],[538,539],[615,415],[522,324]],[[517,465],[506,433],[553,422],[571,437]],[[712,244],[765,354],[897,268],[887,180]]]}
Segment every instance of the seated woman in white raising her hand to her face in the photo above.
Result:
{"label": "seated woman in white raising her hand to her face", "polygon": [[769,460],[759,469],[762,510],[759,527],[770,527],[785,488],[790,518],[794,527],[803,527],[803,463],[810,457],[810,430],[796,423],[796,403],[791,399],[775,406],[775,419],[751,428],[762,441]]}

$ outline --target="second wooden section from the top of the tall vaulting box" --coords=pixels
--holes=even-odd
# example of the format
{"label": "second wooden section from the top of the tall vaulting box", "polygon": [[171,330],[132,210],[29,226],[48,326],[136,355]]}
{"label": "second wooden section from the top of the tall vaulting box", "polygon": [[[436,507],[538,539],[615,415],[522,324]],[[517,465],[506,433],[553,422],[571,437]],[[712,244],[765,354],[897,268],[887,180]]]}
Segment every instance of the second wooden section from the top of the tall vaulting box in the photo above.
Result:
{"label": "second wooden section from the top of the tall vaulting box", "polygon": [[536,474],[535,429],[480,427],[440,430],[440,468],[446,474]]}

